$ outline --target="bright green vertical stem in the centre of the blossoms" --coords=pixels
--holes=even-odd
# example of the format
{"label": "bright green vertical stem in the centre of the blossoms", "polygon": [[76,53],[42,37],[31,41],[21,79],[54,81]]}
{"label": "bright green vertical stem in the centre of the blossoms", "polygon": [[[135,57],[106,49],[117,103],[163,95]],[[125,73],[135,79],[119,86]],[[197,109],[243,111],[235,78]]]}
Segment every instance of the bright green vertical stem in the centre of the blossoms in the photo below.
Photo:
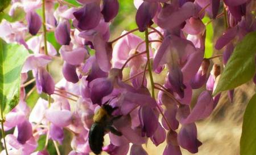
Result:
{"label": "bright green vertical stem in the centre of the blossoms", "polygon": [[148,29],[145,30],[145,42],[146,42],[146,52],[147,52],[147,61],[148,61],[148,73],[150,75],[150,84],[151,84],[151,96],[155,99],[155,88],[154,88],[154,79],[151,69],[151,62],[150,62],[150,51],[149,51],[149,41],[148,41]]}

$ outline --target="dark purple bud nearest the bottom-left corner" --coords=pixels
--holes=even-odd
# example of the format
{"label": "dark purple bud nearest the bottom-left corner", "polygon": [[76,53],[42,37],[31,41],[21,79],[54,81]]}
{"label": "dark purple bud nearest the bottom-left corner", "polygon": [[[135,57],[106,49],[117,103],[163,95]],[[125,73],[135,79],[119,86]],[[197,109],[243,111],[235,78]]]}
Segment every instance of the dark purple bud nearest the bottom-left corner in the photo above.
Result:
{"label": "dark purple bud nearest the bottom-left corner", "polygon": [[32,126],[28,120],[24,120],[18,124],[18,137],[17,140],[20,144],[25,144],[32,136]]}

